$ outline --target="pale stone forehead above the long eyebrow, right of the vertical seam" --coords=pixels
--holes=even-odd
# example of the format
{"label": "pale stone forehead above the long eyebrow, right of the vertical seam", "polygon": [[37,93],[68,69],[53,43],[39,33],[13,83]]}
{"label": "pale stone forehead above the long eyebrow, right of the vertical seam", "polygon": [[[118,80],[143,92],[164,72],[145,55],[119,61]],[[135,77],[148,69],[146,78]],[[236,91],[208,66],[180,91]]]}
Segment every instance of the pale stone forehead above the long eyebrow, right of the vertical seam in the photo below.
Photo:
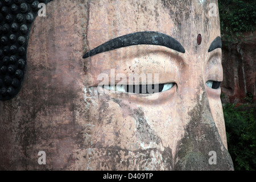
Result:
{"label": "pale stone forehead above the long eyebrow, right of the vertical seam", "polygon": [[[213,10],[216,16],[210,16]],[[88,16],[89,49],[132,32],[157,31],[175,38],[189,53],[196,53],[202,47],[208,49],[220,36],[217,1],[96,0],[90,3]],[[198,34],[202,36],[200,47]]]}

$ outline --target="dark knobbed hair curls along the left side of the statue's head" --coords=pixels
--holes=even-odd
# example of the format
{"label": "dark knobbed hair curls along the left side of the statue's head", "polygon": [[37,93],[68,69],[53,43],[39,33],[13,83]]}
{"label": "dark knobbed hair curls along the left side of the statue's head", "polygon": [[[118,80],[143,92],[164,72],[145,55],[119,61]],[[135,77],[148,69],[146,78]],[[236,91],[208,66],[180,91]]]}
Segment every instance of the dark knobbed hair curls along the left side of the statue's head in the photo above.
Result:
{"label": "dark knobbed hair curls along the left side of the statue's head", "polygon": [[[50,0],[51,1],[51,0]],[[27,43],[32,22],[49,0],[0,1],[0,100],[15,97],[27,67]],[[40,14],[39,14],[40,15]]]}

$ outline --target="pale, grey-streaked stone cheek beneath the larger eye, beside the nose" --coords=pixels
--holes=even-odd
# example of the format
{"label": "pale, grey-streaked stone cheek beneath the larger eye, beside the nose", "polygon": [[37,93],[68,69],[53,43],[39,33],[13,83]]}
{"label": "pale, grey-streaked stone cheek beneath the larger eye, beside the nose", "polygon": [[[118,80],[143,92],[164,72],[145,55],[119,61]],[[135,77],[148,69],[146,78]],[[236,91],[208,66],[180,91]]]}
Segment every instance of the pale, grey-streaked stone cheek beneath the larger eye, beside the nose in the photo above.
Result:
{"label": "pale, grey-streaked stone cheek beneath the larger eye, beside the nose", "polygon": [[108,94],[91,97],[89,122],[94,129],[90,147],[118,146],[129,151],[174,147],[180,119],[172,92],[159,96],[165,99],[159,98],[164,101],[155,105],[154,102],[136,102],[133,98]]}

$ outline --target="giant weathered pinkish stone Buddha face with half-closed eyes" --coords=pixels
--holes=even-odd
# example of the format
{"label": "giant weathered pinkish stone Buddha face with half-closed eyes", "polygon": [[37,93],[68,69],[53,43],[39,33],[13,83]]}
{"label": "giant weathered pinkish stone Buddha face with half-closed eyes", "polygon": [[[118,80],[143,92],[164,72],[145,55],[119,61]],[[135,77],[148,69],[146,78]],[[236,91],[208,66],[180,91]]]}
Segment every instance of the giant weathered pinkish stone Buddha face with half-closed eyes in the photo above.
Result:
{"label": "giant weathered pinkish stone Buddha face with half-closed eyes", "polygon": [[[38,16],[31,28],[23,87],[13,100],[0,102],[1,115],[16,129],[6,132],[11,144],[3,148],[20,148],[5,166],[233,169],[220,100],[220,22],[217,9],[217,16],[210,16],[210,2],[49,2],[46,17]],[[135,32],[141,33],[129,36]],[[156,45],[160,35],[170,38],[171,46]],[[120,42],[109,43],[119,37],[121,44],[143,43],[120,48]],[[106,42],[110,47],[102,47],[113,50],[82,58]],[[102,73],[109,87],[98,87]],[[118,74],[127,80],[135,74],[158,76],[153,82],[162,89],[113,93]],[[35,156],[42,150],[48,160],[43,167]],[[209,164],[210,151],[216,152],[216,164]],[[23,155],[25,164],[17,158]]]}

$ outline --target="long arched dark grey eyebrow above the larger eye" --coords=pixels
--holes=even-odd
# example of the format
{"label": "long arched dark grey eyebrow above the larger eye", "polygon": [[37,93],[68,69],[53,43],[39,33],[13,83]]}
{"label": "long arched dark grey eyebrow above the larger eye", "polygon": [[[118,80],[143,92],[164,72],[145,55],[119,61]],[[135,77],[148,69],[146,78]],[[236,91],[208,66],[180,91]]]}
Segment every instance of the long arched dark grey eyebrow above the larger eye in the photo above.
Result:
{"label": "long arched dark grey eyebrow above the larger eye", "polygon": [[164,46],[175,51],[185,53],[185,49],[177,40],[168,36],[166,34],[162,34],[160,32],[153,31],[144,31],[144,32],[135,32],[123,36],[119,36],[108,42],[101,44],[100,46],[86,52],[82,58],[86,58],[89,56],[97,55],[101,52],[111,51],[121,47],[134,46],[139,44],[150,44],[156,46]]}

